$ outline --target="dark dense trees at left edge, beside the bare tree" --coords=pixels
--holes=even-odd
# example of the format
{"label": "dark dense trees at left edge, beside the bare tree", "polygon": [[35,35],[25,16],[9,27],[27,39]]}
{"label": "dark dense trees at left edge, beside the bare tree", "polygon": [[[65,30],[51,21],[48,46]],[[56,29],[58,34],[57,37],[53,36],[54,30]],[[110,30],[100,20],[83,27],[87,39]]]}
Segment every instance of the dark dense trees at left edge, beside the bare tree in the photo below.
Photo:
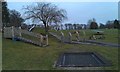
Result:
{"label": "dark dense trees at left edge, beside the bare tree", "polygon": [[15,26],[19,27],[25,20],[21,17],[20,12],[9,10],[7,2],[2,2],[2,23],[3,27]]}

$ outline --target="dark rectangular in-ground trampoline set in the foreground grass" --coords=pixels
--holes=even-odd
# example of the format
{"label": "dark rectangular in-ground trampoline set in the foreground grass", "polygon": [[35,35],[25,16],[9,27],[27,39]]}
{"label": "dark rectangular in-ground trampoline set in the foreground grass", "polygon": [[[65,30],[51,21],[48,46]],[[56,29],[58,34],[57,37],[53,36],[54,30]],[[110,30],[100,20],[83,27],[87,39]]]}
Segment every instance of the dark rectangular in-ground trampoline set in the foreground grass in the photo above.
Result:
{"label": "dark rectangular in-ground trampoline set in the foreground grass", "polygon": [[63,53],[55,64],[56,67],[102,67],[111,63],[95,52]]}

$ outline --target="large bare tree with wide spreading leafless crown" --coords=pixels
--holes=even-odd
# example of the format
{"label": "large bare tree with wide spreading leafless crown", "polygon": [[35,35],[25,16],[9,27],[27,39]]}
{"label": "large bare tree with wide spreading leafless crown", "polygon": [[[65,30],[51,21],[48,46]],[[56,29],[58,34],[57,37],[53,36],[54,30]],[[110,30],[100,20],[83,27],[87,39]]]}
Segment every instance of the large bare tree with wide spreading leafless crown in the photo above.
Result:
{"label": "large bare tree with wide spreading leafless crown", "polygon": [[42,21],[46,32],[48,32],[50,24],[61,23],[63,20],[67,19],[66,11],[64,9],[59,9],[56,5],[51,3],[36,3],[24,9],[26,19]]}

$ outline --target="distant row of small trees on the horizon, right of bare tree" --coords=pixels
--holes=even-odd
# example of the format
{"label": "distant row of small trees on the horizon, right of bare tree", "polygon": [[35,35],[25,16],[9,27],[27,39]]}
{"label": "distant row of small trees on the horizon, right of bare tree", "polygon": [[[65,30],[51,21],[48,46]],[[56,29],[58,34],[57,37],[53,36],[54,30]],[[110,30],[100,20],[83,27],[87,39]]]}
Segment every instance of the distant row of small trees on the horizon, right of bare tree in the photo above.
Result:
{"label": "distant row of small trees on the horizon, right of bare tree", "polygon": [[63,27],[65,28],[65,30],[80,30],[80,29],[119,29],[120,28],[120,21],[118,21],[117,19],[113,20],[113,21],[107,21],[106,24],[102,24],[102,23],[98,23],[96,22],[96,20],[90,19],[88,20],[88,24],[71,24],[71,23],[66,23],[66,24],[58,24],[58,25],[53,25],[52,29],[56,29],[56,30],[62,30]]}

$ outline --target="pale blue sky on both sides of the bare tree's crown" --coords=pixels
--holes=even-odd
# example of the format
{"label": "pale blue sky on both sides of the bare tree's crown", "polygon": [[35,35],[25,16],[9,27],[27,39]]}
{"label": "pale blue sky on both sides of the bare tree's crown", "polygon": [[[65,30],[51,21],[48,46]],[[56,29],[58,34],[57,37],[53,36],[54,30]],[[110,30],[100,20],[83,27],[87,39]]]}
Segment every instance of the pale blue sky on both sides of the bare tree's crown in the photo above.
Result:
{"label": "pale blue sky on both sides of the bare tree's crown", "polygon": [[[23,15],[23,6],[33,2],[8,2],[10,10],[15,9]],[[67,11],[68,20],[64,23],[86,24],[89,19],[95,18],[98,23],[118,19],[117,2],[54,2],[59,8]]]}

